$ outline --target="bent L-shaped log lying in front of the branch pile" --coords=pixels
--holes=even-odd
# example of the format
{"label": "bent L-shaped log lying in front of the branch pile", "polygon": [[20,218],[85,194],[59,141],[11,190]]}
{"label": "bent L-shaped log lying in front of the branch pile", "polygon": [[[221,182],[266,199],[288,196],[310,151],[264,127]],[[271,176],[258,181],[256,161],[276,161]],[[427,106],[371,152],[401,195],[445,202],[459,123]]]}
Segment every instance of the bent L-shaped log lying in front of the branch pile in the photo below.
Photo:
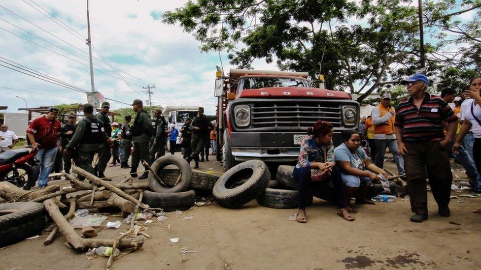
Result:
{"label": "bent L-shaped log lying in front of the branch pile", "polygon": [[[67,219],[62,215],[57,205],[50,199],[43,202],[45,209],[55,224],[59,227],[60,232],[65,236],[70,246],[79,251],[84,251],[88,248],[94,248],[99,246],[112,246],[114,240],[111,239],[82,239],[70,226]],[[118,248],[140,248],[144,242],[143,237],[136,237],[130,239],[123,239],[118,242]]]}

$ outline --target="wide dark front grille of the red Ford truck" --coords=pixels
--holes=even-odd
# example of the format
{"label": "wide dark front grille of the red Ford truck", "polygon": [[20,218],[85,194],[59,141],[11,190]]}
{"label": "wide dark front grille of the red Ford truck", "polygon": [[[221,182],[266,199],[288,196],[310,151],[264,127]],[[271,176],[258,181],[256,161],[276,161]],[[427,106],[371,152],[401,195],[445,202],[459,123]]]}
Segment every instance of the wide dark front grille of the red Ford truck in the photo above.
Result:
{"label": "wide dark front grille of the red Ford truck", "polygon": [[259,127],[312,126],[317,120],[329,121],[334,127],[342,126],[342,104],[337,102],[263,101],[251,107],[251,123]]}

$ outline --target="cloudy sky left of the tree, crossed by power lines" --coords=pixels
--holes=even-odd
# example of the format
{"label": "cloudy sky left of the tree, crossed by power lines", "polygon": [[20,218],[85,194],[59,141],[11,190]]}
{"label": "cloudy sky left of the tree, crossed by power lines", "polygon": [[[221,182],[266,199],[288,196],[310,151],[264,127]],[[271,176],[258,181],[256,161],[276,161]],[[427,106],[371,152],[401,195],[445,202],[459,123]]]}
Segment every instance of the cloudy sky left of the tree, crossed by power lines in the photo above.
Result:
{"label": "cloudy sky left of the tree, crossed by power lines", "polygon": [[[112,66],[128,73],[119,74],[130,84],[115,78],[119,75],[94,51],[95,88],[106,97],[131,103],[136,98],[148,98],[142,86],[155,85],[154,105],[198,105],[213,114],[218,53],[200,53],[200,44],[192,35],[160,21],[163,12],[185,2],[91,0],[92,43]],[[0,60],[11,60],[77,88],[91,89],[85,0],[1,0],[0,5]],[[70,32],[50,15],[40,13],[40,7],[69,26]],[[225,54],[222,57],[227,68]],[[3,66],[0,92],[0,106],[9,107],[6,112],[25,107],[16,96],[25,98],[29,107],[86,102],[84,93]],[[125,106],[111,102],[113,109]]]}

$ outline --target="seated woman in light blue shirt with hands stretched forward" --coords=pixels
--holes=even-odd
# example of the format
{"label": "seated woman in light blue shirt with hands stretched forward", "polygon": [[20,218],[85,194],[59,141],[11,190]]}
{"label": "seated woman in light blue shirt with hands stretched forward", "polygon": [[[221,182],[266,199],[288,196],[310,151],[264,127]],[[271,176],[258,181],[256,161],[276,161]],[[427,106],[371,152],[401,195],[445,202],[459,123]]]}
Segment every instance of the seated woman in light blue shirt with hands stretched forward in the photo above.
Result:
{"label": "seated woman in light blue shirt with hands stretched forward", "polygon": [[[388,175],[385,171],[369,159],[366,152],[360,148],[361,137],[355,130],[343,132],[344,143],[334,150],[337,166],[341,169],[341,178],[344,182],[345,204],[350,213],[357,211],[350,204],[351,197],[359,191],[356,204],[374,204],[366,200],[366,194],[373,185],[373,181],[378,180],[378,174],[386,179]],[[362,183],[362,185],[361,185]],[[361,186],[361,189],[359,187]]]}

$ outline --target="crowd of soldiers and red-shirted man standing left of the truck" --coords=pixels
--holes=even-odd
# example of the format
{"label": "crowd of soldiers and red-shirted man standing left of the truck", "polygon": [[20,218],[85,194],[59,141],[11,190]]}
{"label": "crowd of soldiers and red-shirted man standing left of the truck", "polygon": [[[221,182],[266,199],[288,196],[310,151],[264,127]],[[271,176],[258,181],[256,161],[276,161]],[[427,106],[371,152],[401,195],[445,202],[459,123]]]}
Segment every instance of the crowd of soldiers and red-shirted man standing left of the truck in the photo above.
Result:
{"label": "crowd of soldiers and red-shirted man standing left of the truck", "polygon": [[[194,168],[199,168],[199,162],[208,160],[208,156],[212,155],[209,146],[211,139],[215,141],[215,123],[207,121],[204,108],[199,107],[198,116],[193,120],[187,119],[179,131],[174,124],[167,123],[162,110],[155,110],[151,119],[141,100],[134,100],[132,106],[137,113],[132,125],[131,115],[125,116],[121,125],[111,122],[107,101],[102,103],[101,111],[95,116],[94,107],[85,104],[84,118],[78,122],[76,115],[71,114],[61,125],[56,108],[50,108],[46,115],[31,121],[27,139],[29,145],[39,149],[35,157],[40,165],[38,187],[47,186],[52,171],[61,172],[63,169],[70,173],[72,164],[110,180],[104,174],[110,160],[110,166],[120,164],[121,168],[130,168],[132,177],[137,177],[138,166],[144,166],[145,170],[138,179],[145,179],[148,177],[148,165],[166,154],[167,143],[170,144],[171,154],[174,154],[179,132],[183,157],[189,163],[194,160]],[[0,141],[2,151],[11,149],[18,140],[7,128],[6,125],[1,127],[0,135],[4,138]],[[216,146],[215,143],[213,145]]]}

